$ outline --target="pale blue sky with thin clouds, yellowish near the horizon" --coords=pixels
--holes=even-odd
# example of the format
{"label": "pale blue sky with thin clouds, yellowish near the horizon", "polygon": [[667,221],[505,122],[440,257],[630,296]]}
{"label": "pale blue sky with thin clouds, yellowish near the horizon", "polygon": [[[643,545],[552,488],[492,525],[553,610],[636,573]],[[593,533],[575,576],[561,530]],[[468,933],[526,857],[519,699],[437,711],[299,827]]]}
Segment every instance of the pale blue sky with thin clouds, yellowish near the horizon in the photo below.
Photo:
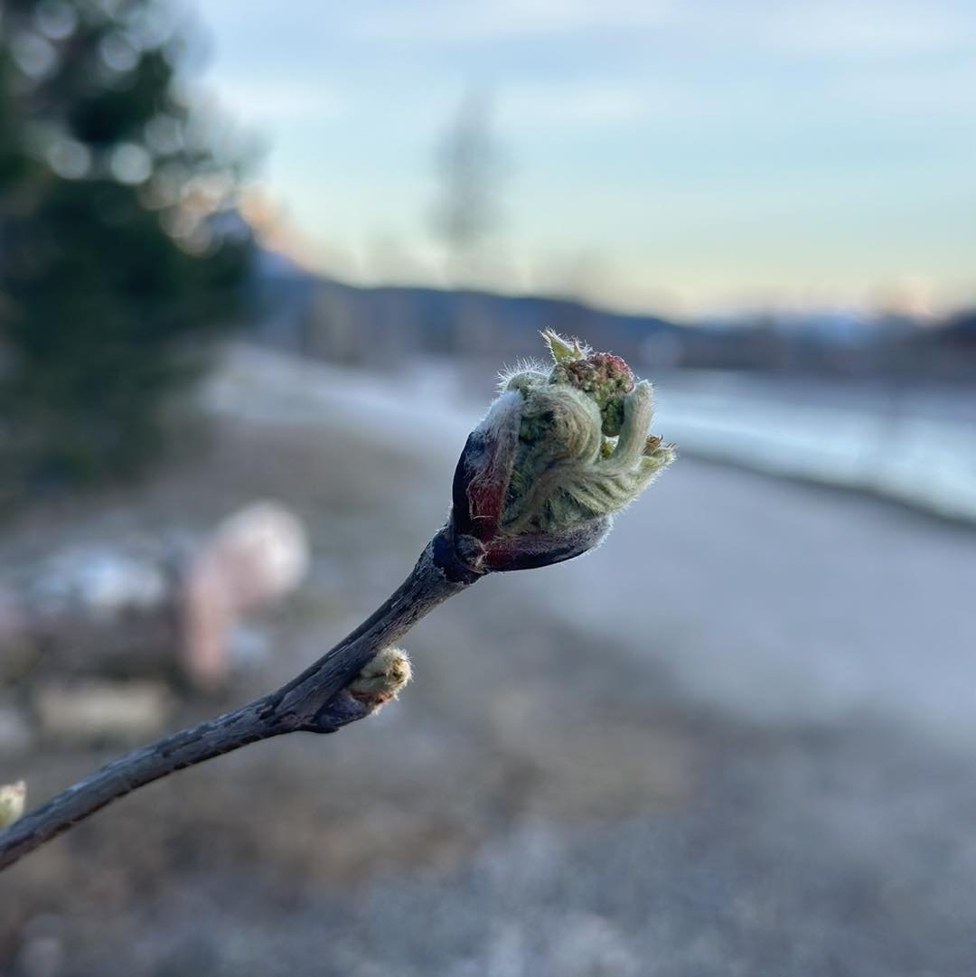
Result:
{"label": "pale blue sky with thin clouds, yellowish near the horizon", "polygon": [[445,283],[437,148],[478,97],[499,165],[474,283],[679,317],[976,298],[972,0],[196,0],[195,18],[206,98],[264,148],[253,212],[319,271]]}

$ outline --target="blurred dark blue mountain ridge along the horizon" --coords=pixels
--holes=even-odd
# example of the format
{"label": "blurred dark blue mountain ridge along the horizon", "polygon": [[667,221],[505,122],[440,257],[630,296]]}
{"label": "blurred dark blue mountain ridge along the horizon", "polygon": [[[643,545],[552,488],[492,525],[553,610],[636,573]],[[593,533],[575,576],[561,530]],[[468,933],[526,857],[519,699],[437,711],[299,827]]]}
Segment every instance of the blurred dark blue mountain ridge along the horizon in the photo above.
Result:
{"label": "blurred dark blue mountain ridge along the horizon", "polygon": [[324,360],[382,363],[409,355],[538,355],[556,329],[658,367],[761,369],[844,375],[976,375],[972,315],[919,328],[904,316],[757,314],[737,324],[679,325],[595,309],[572,298],[416,285],[360,286],[317,276],[259,252],[250,322],[261,343]]}

